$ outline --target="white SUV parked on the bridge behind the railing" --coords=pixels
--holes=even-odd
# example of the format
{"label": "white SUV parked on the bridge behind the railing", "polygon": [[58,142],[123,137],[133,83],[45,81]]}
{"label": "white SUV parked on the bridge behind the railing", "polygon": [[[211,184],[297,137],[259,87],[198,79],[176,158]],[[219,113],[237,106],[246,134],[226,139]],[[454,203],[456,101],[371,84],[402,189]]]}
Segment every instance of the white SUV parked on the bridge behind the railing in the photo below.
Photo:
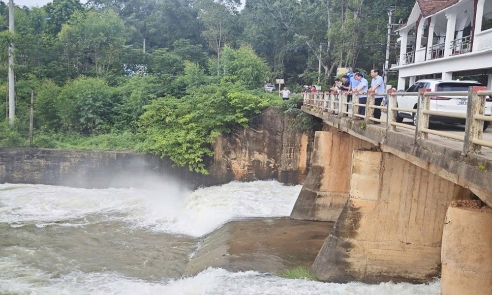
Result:
{"label": "white SUV parked on the bridge behind the railing", "polygon": [[[419,80],[414,85],[410,86],[405,92],[419,92],[419,89],[432,89],[432,91],[468,91],[470,86],[483,86],[477,81],[442,81],[425,79]],[[416,95],[404,95],[397,96],[397,104],[399,108],[405,109],[417,109]],[[468,102],[467,96],[431,96],[431,111],[450,112],[450,113],[464,113],[466,114],[466,104]],[[488,97],[485,103],[485,115],[492,115],[492,99]],[[398,112],[397,122],[403,121],[403,118],[410,118],[415,125],[415,114]],[[430,121],[452,123],[452,124],[464,124],[465,119],[449,118],[442,116],[430,116]],[[490,122],[484,122],[484,130],[489,127]]]}

